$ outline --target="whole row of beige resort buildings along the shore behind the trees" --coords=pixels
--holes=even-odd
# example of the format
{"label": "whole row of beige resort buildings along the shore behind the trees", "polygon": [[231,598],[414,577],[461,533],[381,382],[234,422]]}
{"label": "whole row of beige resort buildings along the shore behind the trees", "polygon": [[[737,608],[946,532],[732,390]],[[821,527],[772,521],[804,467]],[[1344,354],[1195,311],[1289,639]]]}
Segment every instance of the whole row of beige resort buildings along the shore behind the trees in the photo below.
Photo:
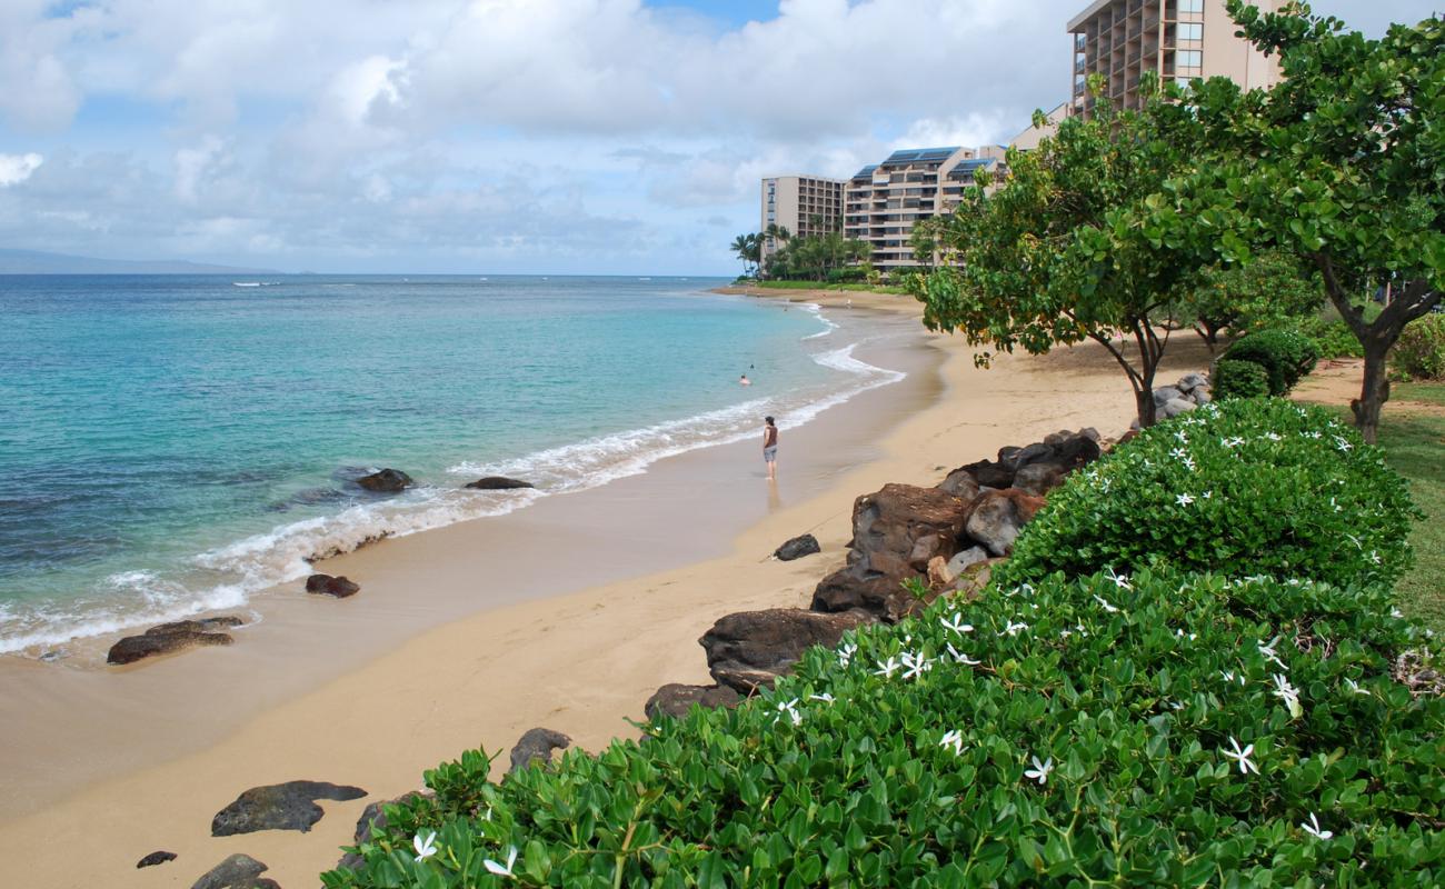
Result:
{"label": "whole row of beige resort buildings along the shore behind the trees", "polygon": [[[1276,9],[1285,0],[1254,0]],[[1088,94],[1091,74],[1104,77],[1105,97],[1121,107],[1139,108],[1139,78],[1155,72],[1160,80],[1228,77],[1244,88],[1270,87],[1282,80],[1277,58],[1264,58],[1235,38],[1237,26],[1224,0],[1095,0],[1068,23],[1072,35],[1074,87],[1071,98],[1045,117],[1045,126],[1023,130],[1010,140],[1032,150],[1071,114],[1088,114],[1095,97]],[[808,237],[841,230],[867,241],[873,267],[884,275],[918,266],[909,239],[913,226],[949,212],[972,185],[980,169],[997,169],[1001,146],[903,149],[881,163],[864,166],[851,179],[773,176],[763,179],[762,228],[786,227]],[[777,244],[763,243],[763,259]]]}

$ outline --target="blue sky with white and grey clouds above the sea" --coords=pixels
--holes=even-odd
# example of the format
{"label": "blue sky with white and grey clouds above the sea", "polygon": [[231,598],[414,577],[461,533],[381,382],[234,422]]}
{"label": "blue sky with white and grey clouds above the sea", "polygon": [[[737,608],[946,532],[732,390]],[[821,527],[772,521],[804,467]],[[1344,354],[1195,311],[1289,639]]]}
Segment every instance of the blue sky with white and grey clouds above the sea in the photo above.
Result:
{"label": "blue sky with white and grey clouds above the sea", "polygon": [[[759,179],[1004,143],[1087,0],[0,0],[0,247],[733,275]],[[1377,36],[1439,0],[1315,0]]]}

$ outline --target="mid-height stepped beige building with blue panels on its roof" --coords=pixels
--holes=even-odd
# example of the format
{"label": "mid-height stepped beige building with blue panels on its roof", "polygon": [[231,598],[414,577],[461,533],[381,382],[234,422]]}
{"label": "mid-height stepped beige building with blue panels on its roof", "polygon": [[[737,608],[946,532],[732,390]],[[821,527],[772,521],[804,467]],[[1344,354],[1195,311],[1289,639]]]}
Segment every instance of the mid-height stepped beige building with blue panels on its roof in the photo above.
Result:
{"label": "mid-height stepped beige building with blue panels on its roof", "polygon": [[903,149],[870,163],[844,189],[842,233],[873,247],[873,267],[889,275],[919,265],[913,226],[958,207],[974,173],[994,168],[1001,149]]}

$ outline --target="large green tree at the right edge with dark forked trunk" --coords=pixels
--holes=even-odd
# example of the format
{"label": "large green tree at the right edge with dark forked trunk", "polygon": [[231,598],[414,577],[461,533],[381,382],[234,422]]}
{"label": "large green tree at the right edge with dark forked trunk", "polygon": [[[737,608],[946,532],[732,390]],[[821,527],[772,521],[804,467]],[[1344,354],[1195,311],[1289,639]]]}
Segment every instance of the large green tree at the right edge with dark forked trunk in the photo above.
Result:
{"label": "large green tree at the right edge with dark forked trunk", "polygon": [[[1364,348],[1351,408],[1373,442],[1389,351],[1445,289],[1445,20],[1393,25],[1370,40],[1303,3],[1261,14],[1230,0],[1228,10],[1279,56],[1285,81],[1269,93],[1196,84],[1191,106],[1214,158],[1178,184],[1168,218],[1153,218],[1166,237],[1214,243],[1228,260],[1267,244],[1319,270]],[[1366,302],[1381,293],[1384,309],[1366,321]]]}

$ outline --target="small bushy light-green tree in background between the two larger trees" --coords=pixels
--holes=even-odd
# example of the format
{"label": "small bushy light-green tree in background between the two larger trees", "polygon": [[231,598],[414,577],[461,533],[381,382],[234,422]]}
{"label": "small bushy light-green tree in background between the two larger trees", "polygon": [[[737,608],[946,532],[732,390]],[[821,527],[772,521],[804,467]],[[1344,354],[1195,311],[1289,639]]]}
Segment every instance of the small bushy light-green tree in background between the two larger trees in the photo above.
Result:
{"label": "small bushy light-green tree in background between the two larger trees", "polygon": [[1319,311],[1325,291],[1319,273],[1290,253],[1270,250],[1246,265],[1214,266],[1204,272],[1189,299],[1194,331],[1209,351],[1225,328],[1247,334],[1305,318]]}

